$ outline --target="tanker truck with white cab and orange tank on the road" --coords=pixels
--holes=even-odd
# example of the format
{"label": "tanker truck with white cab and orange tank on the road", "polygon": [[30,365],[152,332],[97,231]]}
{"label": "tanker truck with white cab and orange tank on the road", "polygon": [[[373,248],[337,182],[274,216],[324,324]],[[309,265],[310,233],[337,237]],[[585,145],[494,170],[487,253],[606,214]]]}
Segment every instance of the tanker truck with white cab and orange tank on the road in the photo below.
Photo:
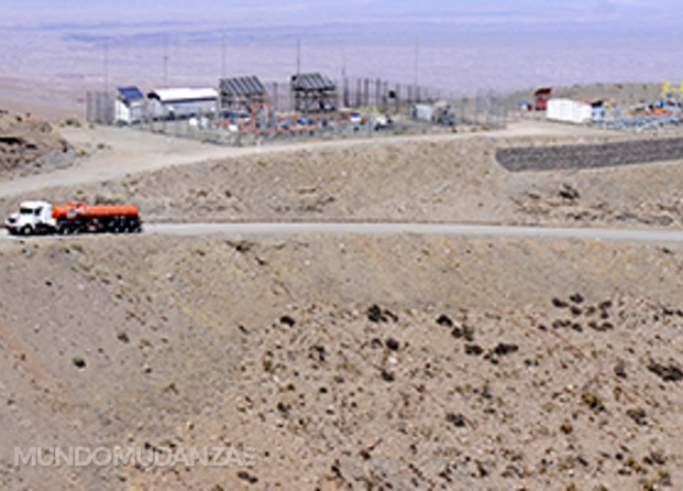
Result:
{"label": "tanker truck with white cab and orange tank on the road", "polygon": [[140,232],[142,222],[134,205],[86,205],[66,203],[52,205],[47,201],[24,201],[19,212],[12,214],[4,223],[12,234],[36,233],[125,233]]}

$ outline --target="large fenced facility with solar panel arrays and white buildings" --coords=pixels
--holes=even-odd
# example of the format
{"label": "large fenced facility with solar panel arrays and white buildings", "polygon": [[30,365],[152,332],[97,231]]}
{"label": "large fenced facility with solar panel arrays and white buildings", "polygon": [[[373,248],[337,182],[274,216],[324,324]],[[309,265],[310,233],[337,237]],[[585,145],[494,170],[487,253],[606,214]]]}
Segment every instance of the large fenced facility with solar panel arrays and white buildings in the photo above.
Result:
{"label": "large fenced facility with solar panel arrays and white buildings", "polygon": [[240,75],[223,76],[214,87],[125,86],[113,95],[90,91],[87,118],[91,123],[243,145],[265,139],[497,126],[505,121],[509,102],[493,92],[456,102],[453,92],[417,84],[346,76],[335,80],[322,73],[297,69],[284,83]]}

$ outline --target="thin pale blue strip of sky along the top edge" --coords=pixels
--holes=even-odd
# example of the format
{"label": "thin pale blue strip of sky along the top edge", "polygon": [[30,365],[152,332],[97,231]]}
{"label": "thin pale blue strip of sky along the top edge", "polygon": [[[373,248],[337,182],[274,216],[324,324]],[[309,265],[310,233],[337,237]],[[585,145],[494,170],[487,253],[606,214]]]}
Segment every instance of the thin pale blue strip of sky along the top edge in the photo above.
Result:
{"label": "thin pale blue strip of sky along the top edge", "polygon": [[341,23],[433,22],[452,25],[675,25],[673,0],[2,0],[3,26],[102,22],[187,22],[240,28]]}

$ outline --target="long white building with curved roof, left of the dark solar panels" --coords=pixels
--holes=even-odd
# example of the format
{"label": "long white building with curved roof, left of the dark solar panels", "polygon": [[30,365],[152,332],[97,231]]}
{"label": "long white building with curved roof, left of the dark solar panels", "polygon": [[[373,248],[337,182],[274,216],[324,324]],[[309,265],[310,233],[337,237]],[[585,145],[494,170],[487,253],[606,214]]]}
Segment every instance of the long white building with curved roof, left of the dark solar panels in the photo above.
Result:
{"label": "long white building with curved roof, left of the dark solar panels", "polygon": [[213,88],[158,89],[147,94],[153,118],[189,118],[218,112],[218,91]]}

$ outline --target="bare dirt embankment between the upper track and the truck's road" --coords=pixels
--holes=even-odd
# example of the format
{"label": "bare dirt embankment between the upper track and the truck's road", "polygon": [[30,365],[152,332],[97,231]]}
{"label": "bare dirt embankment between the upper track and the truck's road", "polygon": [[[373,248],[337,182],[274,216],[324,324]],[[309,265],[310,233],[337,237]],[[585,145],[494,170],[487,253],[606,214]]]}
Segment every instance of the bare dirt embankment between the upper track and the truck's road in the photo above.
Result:
{"label": "bare dirt embankment between the upper track and the truck's road", "polygon": [[[382,220],[682,227],[681,161],[520,173],[507,171],[495,159],[497,152],[508,152],[516,166],[553,168],[566,166],[562,163],[581,154],[601,164],[599,145],[621,149],[605,138],[387,141],[250,155],[3,198],[0,211],[7,215],[22,199],[41,198],[134,203],[148,222]],[[624,149],[659,144],[632,137],[616,140],[623,141]],[[555,148],[570,149],[571,155]],[[619,155],[624,153],[616,152],[613,161],[621,162]],[[624,156],[624,162],[630,159]],[[675,159],[675,152],[665,157]]]}

